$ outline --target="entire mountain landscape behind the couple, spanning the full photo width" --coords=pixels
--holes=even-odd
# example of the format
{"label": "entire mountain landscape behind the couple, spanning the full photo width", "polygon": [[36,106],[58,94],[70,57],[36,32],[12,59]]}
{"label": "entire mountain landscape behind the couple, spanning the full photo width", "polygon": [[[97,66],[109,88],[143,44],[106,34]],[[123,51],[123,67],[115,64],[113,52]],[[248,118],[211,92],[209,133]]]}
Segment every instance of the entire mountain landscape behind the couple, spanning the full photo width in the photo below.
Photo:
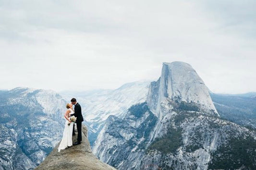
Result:
{"label": "entire mountain landscape behind the couple, spanning the full photo width", "polygon": [[[217,169],[214,166],[217,163],[221,165],[221,159],[233,163],[236,168],[241,167],[242,162],[244,169],[254,169],[251,162],[256,154],[250,151],[256,146],[253,131],[256,127],[255,93],[210,93],[209,97],[207,91],[195,70],[182,62],[164,63],[158,81],[127,83],[116,90],[66,91],[63,92],[64,97],[54,91],[31,88],[0,91],[0,170],[28,170],[40,164],[61,139],[66,101],[73,97],[83,107],[90,144],[93,145],[97,139],[93,153],[120,169],[168,169],[170,162],[167,168],[161,162],[162,158],[166,158],[164,162],[169,161],[168,157],[162,156],[166,154],[162,151],[176,152],[178,146],[182,152],[178,158],[194,161],[190,156],[197,154],[202,157],[202,149],[212,140],[215,142],[211,143],[210,151],[208,149],[203,156],[210,159],[208,168]],[[206,133],[207,130],[209,132]],[[172,140],[168,141],[170,138]],[[165,145],[161,142],[167,143],[168,149],[162,147]],[[240,146],[243,146],[242,150]],[[161,158],[153,154],[154,149],[161,153]],[[242,159],[235,152],[249,159]],[[160,161],[150,163],[151,155],[148,153]],[[172,153],[173,157],[177,157],[175,154]],[[225,157],[216,157],[221,154]],[[227,155],[229,159],[226,159]],[[240,164],[234,163],[234,159]],[[147,163],[139,164],[138,160]],[[178,159],[170,160],[180,162]],[[186,166],[192,169],[202,167],[198,163],[201,160],[195,160],[196,164],[188,163]],[[221,166],[225,169],[223,162]],[[231,164],[226,163],[226,167]],[[172,165],[184,168],[179,166]]]}

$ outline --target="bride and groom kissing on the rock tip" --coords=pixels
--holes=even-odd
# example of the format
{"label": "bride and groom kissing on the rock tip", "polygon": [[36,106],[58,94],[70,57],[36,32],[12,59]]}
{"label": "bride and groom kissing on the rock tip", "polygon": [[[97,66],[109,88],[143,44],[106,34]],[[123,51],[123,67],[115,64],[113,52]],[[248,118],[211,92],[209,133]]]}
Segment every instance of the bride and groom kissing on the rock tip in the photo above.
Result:
{"label": "bride and groom kissing on the rock tip", "polygon": [[[73,110],[74,105],[74,110]],[[83,115],[82,115],[82,109],[78,102],[76,102],[76,99],[71,99],[71,103],[67,104],[67,112],[64,114],[65,119],[67,120],[65,122],[65,128],[63,131],[63,136],[61,139],[60,146],[58,147],[58,152],[61,151],[61,149],[65,149],[67,147],[71,147],[73,145],[79,145],[82,141],[82,122],[84,121]],[[75,122],[71,120],[71,117],[75,117]],[[73,144],[72,136],[75,135],[74,132],[74,123],[76,123],[77,128],[77,142]]]}

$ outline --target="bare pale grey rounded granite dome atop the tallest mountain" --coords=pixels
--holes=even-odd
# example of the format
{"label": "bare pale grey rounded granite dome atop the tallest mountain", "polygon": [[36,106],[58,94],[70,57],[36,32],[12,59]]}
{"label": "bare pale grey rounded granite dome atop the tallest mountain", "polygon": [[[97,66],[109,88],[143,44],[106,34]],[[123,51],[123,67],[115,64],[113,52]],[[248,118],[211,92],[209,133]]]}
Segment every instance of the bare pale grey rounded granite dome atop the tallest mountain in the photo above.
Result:
{"label": "bare pale grey rounded granite dome atop the tallest mountain", "polygon": [[146,102],[150,110],[161,119],[164,116],[161,105],[170,100],[193,104],[207,114],[219,115],[204,81],[195,69],[181,61],[163,63],[161,77],[151,82]]}

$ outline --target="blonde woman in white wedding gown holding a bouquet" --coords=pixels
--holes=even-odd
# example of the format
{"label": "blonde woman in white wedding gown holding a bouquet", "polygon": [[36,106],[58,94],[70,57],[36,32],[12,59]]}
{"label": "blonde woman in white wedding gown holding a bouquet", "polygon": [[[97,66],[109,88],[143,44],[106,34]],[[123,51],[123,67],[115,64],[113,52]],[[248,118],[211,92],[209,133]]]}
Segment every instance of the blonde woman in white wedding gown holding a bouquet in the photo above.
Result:
{"label": "blonde woman in white wedding gown holding a bouquet", "polygon": [[71,147],[73,145],[72,132],[73,132],[73,124],[74,123],[69,119],[70,115],[74,113],[72,106],[73,106],[72,103],[68,103],[66,105],[68,110],[64,114],[64,117],[65,117],[65,119],[67,119],[67,121],[65,122],[65,128],[64,128],[64,131],[63,131],[62,139],[61,139],[61,144],[58,147],[58,152],[60,152],[61,149],[65,149],[65,148]]}

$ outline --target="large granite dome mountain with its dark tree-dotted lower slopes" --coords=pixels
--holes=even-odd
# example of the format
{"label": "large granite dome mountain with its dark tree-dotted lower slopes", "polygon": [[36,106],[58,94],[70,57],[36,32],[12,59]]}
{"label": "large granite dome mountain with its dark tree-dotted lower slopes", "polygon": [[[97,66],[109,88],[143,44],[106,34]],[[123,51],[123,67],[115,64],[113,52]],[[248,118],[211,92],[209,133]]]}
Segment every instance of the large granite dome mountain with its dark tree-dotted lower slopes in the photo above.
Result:
{"label": "large granite dome mountain with its dark tree-dotted lower slopes", "polygon": [[119,170],[256,168],[256,132],[220,118],[187,63],[163,63],[145,102],[111,115],[93,147]]}

